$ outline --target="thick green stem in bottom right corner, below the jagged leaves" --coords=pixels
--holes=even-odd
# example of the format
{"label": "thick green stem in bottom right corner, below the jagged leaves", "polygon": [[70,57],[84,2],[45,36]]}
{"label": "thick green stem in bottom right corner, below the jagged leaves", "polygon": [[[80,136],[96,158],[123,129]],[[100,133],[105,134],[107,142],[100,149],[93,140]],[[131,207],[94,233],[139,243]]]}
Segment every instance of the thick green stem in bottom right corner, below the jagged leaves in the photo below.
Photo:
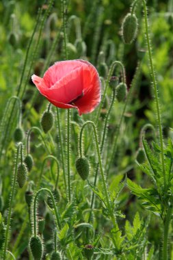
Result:
{"label": "thick green stem in bottom right corner, below the jagged leaves", "polygon": [[170,220],[172,217],[172,207],[168,208],[167,215],[165,217],[164,223],[164,235],[163,235],[163,259],[168,259],[168,233],[169,233],[169,226]]}

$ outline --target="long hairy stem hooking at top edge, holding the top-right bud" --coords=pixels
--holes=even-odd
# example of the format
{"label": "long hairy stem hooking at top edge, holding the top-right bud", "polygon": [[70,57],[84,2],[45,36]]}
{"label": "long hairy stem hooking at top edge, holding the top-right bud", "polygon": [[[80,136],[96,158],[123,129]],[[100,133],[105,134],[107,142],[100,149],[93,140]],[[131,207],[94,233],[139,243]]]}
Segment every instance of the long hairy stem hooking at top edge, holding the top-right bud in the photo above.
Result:
{"label": "long hairy stem hooking at top edge, holding the top-right bud", "polygon": [[[133,3],[131,13],[135,11],[135,5],[139,0],[136,0]],[[160,113],[160,107],[159,107],[159,97],[158,97],[158,91],[157,91],[157,80],[155,76],[155,68],[152,61],[152,51],[151,51],[151,44],[150,44],[150,37],[149,37],[149,27],[148,27],[148,16],[147,16],[147,8],[146,8],[146,1],[142,0],[142,3],[144,5],[144,19],[145,19],[145,27],[146,27],[146,43],[148,47],[148,56],[149,56],[149,62],[150,62],[150,73],[152,76],[152,83],[154,86],[154,93],[155,93],[155,102],[156,102],[156,109],[157,109],[157,121],[159,125],[159,138],[160,138],[160,145],[161,145],[161,164],[162,164],[162,170],[163,170],[163,181],[164,181],[164,187],[166,187],[166,179],[165,179],[165,161],[164,161],[164,152],[163,152],[163,133],[161,128],[161,113]]]}

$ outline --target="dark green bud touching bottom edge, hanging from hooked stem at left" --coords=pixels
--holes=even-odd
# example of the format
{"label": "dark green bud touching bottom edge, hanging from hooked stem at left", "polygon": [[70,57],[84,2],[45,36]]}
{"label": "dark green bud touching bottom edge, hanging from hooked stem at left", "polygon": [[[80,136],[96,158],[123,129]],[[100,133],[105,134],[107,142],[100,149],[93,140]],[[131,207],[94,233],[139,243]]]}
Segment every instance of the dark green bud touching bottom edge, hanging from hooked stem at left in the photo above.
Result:
{"label": "dark green bud touching bottom edge, hanging from hooked stem at left", "polygon": [[30,239],[30,248],[32,255],[34,257],[34,260],[40,260],[42,259],[42,241],[40,237],[31,237]]}

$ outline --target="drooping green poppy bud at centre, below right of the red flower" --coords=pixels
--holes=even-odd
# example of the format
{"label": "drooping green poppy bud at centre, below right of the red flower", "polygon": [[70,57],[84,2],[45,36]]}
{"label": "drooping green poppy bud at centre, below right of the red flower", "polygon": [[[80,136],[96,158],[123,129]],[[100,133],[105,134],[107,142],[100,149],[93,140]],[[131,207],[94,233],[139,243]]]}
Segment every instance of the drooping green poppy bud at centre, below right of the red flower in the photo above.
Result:
{"label": "drooping green poppy bud at centre, below right of the red flower", "polygon": [[81,179],[85,181],[88,178],[90,172],[90,165],[88,159],[86,159],[85,157],[78,158],[76,161],[76,169]]}

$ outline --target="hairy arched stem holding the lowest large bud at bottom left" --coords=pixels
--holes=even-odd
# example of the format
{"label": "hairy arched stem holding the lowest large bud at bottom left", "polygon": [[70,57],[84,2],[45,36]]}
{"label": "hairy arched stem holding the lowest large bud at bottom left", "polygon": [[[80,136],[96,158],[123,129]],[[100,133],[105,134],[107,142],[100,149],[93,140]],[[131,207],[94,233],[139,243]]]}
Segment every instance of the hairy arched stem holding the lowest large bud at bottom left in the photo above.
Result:
{"label": "hairy arched stem holding the lowest large bud at bottom left", "polygon": [[59,213],[58,213],[57,207],[55,205],[55,200],[53,198],[53,194],[51,193],[51,191],[49,189],[42,188],[42,189],[38,190],[38,192],[36,193],[36,196],[34,198],[34,237],[36,237],[36,235],[37,235],[37,226],[36,226],[36,224],[37,224],[37,214],[36,214],[37,200],[38,200],[38,196],[40,195],[41,192],[48,192],[49,196],[51,196],[51,200],[52,200],[52,203],[53,203],[53,209],[55,211],[57,226],[58,226],[59,229],[62,229],[62,225],[61,225],[61,222],[60,222],[60,219],[59,219]]}

